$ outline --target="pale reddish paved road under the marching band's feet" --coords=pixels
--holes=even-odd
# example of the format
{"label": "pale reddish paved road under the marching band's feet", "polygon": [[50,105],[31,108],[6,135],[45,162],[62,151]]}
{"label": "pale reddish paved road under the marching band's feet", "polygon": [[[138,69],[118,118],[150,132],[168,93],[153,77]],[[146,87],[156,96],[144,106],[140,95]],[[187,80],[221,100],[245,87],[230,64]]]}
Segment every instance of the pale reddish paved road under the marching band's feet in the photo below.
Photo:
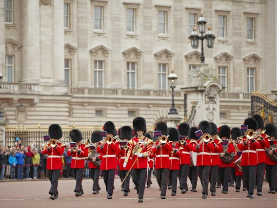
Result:
{"label": "pale reddish paved road under the marching band's feet", "polygon": [[[217,188],[216,196],[208,195],[207,199],[201,198],[202,187],[200,181],[197,184],[197,193],[188,192],[181,194],[177,190],[176,196],[171,196],[171,190],[167,191],[166,199],[160,199],[159,186],[156,179],[152,178],[153,184],[145,188],[144,202],[137,202],[137,194],[130,183],[131,192],[127,197],[121,191],[113,194],[113,199],[106,198],[103,179],[100,179],[101,191],[97,195],[92,194],[92,180],[83,180],[84,195],[75,197],[73,179],[60,179],[58,199],[49,199],[50,182],[48,180],[31,181],[4,181],[0,183],[1,207],[277,207],[277,194],[268,194],[268,183],[264,182],[263,196],[257,196],[254,191],[254,199],[246,198],[246,192],[236,193],[234,187],[229,187],[228,194],[222,194]],[[115,192],[120,185],[120,179],[116,178]],[[189,188],[191,187],[189,183]]]}

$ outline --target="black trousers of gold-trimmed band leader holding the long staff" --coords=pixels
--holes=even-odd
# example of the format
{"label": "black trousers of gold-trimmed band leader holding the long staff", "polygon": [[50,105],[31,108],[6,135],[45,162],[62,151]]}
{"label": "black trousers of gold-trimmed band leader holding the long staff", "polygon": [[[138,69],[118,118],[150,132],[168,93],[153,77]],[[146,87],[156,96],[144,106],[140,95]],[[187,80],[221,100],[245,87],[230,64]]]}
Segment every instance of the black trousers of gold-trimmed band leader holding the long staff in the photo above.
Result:
{"label": "black trousers of gold-trimmed band leader holding the long staff", "polygon": [[138,198],[142,199],[146,183],[147,168],[133,169],[132,172],[133,183],[135,184]]}

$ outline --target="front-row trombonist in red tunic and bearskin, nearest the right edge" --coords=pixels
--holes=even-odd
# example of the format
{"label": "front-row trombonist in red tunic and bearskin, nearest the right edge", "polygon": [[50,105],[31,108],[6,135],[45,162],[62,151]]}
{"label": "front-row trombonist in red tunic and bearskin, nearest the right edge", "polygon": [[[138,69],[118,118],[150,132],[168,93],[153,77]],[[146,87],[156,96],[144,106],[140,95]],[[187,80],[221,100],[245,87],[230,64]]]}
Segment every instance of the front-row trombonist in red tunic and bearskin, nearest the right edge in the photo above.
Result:
{"label": "front-row trombonist in red tunic and bearskin, nearest the right edge", "polygon": [[[248,129],[252,129],[254,131],[258,127],[258,123],[253,118],[245,119],[244,124],[248,125]],[[243,178],[245,178],[245,185],[248,191],[247,197],[253,199],[256,166],[258,164],[256,148],[259,148],[259,143],[255,138],[251,138],[246,135],[238,144],[238,147],[243,152],[241,165],[243,169]]]}

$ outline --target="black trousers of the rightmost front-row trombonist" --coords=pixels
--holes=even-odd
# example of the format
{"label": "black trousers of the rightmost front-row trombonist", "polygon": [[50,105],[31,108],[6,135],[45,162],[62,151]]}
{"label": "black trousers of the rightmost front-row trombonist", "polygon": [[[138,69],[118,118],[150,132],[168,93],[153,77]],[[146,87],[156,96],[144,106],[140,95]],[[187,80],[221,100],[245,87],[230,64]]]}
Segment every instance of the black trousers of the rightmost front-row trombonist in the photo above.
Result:
{"label": "black trousers of the rightmost front-row trombonist", "polygon": [[256,165],[242,166],[243,178],[245,178],[245,186],[248,194],[254,193],[254,185],[256,180]]}

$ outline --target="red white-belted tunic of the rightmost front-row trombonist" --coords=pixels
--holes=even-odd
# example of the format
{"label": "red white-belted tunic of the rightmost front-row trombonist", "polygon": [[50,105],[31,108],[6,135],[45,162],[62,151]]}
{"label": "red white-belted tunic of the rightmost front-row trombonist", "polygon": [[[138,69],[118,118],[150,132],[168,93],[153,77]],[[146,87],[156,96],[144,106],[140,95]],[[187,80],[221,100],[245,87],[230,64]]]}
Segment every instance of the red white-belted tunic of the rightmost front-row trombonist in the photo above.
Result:
{"label": "red white-belted tunic of the rightmost front-row trombonist", "polygon": [[238,148],[243,152],[242,153],[242,166],[257,165],[257,153],[256,148],[259,147],[259,143],[255,141],[254,143],[251,139],[248,140],[248,143],[244,144],[246,137],[243,137],[243,141],[238,144]]}

